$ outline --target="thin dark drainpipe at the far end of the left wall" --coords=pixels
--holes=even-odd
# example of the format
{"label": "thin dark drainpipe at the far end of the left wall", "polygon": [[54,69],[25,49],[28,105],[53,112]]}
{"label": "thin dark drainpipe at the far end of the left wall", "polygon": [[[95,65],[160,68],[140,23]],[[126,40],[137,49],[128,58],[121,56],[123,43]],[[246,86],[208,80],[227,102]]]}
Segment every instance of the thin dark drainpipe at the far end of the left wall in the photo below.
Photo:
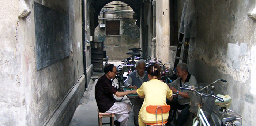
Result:
{"label": "thin dark drainpipe at the far end of the left wall", "polygon": [[86,55],[85,55],[85,46],[86,46],[86,38],[85,38],[85,0],[82,0],[82,39],[83,39],[83,71],[85,75],[85,88],[87,88],[87,72],[86,72]]}

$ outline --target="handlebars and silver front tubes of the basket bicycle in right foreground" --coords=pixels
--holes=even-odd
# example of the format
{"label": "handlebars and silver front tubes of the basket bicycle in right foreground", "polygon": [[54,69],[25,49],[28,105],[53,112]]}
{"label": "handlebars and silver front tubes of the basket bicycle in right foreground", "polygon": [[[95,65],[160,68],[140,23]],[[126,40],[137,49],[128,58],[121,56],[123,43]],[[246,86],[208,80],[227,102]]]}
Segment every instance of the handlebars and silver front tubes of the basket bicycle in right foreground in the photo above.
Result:
{"label": "handlebars and silver front tubes of the basket bicycle in right foreground", "polygon": [[[224,102],[224,100],[222,98],[214,95],[214,93],[212,91],[210,92],[210,94],[207,94],[207,93],[204,93],[204,92],[196,91],[195,89],[192,88],[192,86],[188,86],[188,85],[185,85],[185,84],[184,84],[184,86],[189,87],[189,88],[181,87],[180,89],[181,90],[193,91],[195,93],[192,92],[192,97],[193,97],[193,95],[195,95],[196,97],[199,97],[199,101],[193,101],[194,103],[191,103],[191,106],[193,106],[195,103],[198,102],[197,113],[196,113],[196,117],[193,119],[192,126],[197,126],[197,125],[201,126],[202,124],[204,126],[211,126],[210,123],[208,122],[207,118],[206,118],[207,116],[210,115],[210,111],[203,110],[202,106],[203,105],[209,105],[209,103],[211,103],[209,101],[211,101],[212,99],[210,99],[208,97],[215,98],[215,99],[217,99],[221,102]],[[200,87],[194,87],[194,88],[200,88]],[[192,99],[191,99],[191,101],[192,101]],[[205,113],[207,115],[205,115]]]}

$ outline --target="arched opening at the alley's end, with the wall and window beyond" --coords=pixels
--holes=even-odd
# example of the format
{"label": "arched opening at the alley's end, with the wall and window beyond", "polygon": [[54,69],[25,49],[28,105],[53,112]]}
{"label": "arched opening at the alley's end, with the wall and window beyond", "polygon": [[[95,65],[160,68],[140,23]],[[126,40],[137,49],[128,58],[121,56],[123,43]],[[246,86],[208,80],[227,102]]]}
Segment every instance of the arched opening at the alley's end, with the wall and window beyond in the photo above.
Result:
{"label": "arched opening at the alley's end, with the wall and window beyond", "polygon": [[104,41],[109,60],[123,60],[129,48],[140,48],[140,31],[133,9],[124,2],[113,1],[101,9],[95,27],[95,41]]}

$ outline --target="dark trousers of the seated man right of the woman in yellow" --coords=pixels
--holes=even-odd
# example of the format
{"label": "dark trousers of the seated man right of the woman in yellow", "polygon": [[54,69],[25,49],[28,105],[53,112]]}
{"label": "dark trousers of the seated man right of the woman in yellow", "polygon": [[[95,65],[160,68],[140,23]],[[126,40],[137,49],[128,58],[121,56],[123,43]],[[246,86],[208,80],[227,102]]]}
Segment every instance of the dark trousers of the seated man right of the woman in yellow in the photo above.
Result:
{"label": "dark trousers of the seated man right of the woman in yellow", "polygon": [[[167,101],[166,103],[167,105],[171,106],[170,113],[172,112],[172,110],[177,110],[177,109],[182,110],[180,115],[178,116],[177,123],[175,126],[183,126],[188,120],[190,105],[189,104],[180,105],[177,99],[174,99],[172,101]],[[176,111],[174,111],[174,113],[176,113]],[[170,121],[171,119],[170,117],[172,116],[169,114],[168,121]]]}

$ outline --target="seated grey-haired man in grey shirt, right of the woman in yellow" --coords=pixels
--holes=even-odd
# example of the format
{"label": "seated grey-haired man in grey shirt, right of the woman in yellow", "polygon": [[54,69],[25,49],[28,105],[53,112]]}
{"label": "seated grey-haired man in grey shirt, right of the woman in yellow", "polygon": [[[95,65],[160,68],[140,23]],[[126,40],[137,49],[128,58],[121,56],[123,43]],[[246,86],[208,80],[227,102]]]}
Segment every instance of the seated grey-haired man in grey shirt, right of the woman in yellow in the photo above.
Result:
{"label": "seated grey-haired man in grey shirt, right of the woman in yellow", "polygon": [[[187,90],[181,90],[180,87],[184,87],[183,84],[193,86],[196,85],[196,78],[189,74],[188,67],[186,63],[179,63],[176,67],[177,75],[179,78],[174,80],[169,85],[170,89],[177,95],[177,99],[173,101],[166,102],[171,106],[171,110],[180,109],[181,114],[178,116],[177,123],[175,126],[183,126],[188,119],[189,108],[190,108],[190,99]],[[170,116],[169,116],[170,117]]]}

